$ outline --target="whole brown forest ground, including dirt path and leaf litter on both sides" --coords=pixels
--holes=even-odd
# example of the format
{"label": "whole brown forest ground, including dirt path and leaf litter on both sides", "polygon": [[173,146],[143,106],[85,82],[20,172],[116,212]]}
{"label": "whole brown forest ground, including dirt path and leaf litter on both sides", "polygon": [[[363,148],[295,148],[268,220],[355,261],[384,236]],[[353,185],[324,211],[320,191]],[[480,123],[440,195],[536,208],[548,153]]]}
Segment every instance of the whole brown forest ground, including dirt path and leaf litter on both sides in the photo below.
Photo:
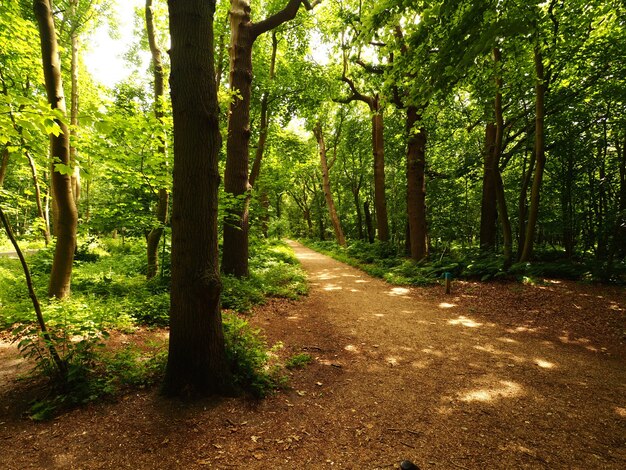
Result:
{"label": "whole brown forest ground, including dirt path and leaf litter on both sides", "polygon": [[455,282],[446,295],[292,246],[310,294],[251,318],[281,355],[314,357],[288,390],[193,404],[146,390],[35,423],[23,364],[0,344],[0,466],[626,468],[623,288]]}

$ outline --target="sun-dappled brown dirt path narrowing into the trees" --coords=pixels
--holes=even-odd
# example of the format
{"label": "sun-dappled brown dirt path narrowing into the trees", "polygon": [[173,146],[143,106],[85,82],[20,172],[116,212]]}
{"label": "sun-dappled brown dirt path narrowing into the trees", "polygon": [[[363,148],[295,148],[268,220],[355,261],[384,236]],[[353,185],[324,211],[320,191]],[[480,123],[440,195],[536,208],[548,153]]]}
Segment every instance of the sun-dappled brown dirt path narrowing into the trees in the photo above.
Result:
{"label": "sun-dappled brown dirt path narrowing into the trees", "polygon": [[361,468],[394,452],[422,468],[626,468],[623,362],[481,323],[453,296],[433,305],[290,245],[311,280],[295,308],[332,325],[345,361],[333,414],[356,410],[353,432],[371,438],[352,457]]}

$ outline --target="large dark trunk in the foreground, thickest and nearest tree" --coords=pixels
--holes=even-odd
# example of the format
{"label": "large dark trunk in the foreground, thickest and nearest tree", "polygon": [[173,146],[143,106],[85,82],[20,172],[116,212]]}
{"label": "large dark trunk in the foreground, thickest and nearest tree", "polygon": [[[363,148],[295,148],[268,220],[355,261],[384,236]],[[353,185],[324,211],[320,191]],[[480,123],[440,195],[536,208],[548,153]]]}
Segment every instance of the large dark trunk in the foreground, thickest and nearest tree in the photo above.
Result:
{"label": "large dark trunk in the foreground, thickest and nearest tree", "polygon": [[217,194],[221,144],[213,56],[215,0],[169,0],[174,115],[172,287],[167,395],[232,391],[220,313]]}

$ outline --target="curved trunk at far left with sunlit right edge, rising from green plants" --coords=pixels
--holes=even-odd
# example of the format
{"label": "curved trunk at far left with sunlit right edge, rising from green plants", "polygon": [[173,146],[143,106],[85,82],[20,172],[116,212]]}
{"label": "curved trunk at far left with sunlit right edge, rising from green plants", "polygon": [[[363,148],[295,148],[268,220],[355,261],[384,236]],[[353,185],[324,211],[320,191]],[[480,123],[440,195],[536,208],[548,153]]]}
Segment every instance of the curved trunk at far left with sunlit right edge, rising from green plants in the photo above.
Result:
{"label": "curved trunk at far left with sunlit right edge, rising from green plants", "polygon": [[[48,103],[52,109],[58,109],[65,114],[66,107],[61,79],[61,63],[50,2],[49,0],[34,0],[33,9],[39,24]],[[48,295],[63,299],[70,293],[78,214],[72,194],[71,176],[65,174],[67,172],[62,173],[54,168],[55,162],[60,162],[66,167],[71,165],[69,130],[62,120],[57,120],[57,124],[61,129],[61,133],[58,136],[50,135],[50,153],[53,162],[51,179],[57,207],[57,225],[55,227],[57,244],[54,250]]]}

